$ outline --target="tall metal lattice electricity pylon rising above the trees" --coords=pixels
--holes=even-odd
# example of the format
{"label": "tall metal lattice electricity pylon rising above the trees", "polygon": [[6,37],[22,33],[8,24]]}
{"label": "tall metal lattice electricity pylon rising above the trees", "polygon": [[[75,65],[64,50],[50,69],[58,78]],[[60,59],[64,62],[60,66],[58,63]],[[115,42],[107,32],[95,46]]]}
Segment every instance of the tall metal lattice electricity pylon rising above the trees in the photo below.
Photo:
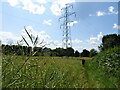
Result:
{"label": "tall metal lattice electricity pylon rising above the trees", "polygon": [[65,7],[61,9],[64,14],[62,17],[59,18],[59,20],[63,19],[63,23],[60,25],[60,28],[63,27],[63,48],[72,47],[71,30],[69,24],[73,21],[70,21],[69,17],[73,14],[76,16],[76,14],[75,12],[69,12],[69,8],[73,8],[73,5],[65,4]]}

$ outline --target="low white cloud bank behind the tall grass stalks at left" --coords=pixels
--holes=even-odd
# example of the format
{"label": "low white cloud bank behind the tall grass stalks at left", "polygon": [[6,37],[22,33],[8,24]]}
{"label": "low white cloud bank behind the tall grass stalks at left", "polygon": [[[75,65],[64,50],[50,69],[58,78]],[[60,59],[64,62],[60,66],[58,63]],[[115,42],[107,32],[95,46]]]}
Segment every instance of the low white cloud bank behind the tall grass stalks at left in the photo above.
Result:
{"label": "low white cloud bank behind the tall grass stalks at left", "polygon": [[[43,41],[42,45],[46,44],[46,47],[49,47],[52,49],[55,49],[57,47],[62,47],[62,43],[60,41],[52,40],[51,37],[44,30],[41,30],[40,32],[38,32],[38,30],[34,30],[32,26],[26,26],[26,29],[29,32],[29,34],[32,35],[34,40],[38,35],[38,41],[39,41],[38,43]],[[29,45],[32,46],[31,40],[24,29],[21,30],[20,36],[15,36],[11,32],[0,32],[0,40],[2,41],[2,44],[15,44],[15,45],[17,44],[17,41],[19,42],[22,40],[20,44],[27,46],[26,43],[23,41],[21,35],[26,39]],[[40,46],[40,45],[37,45],[37,46]]]}

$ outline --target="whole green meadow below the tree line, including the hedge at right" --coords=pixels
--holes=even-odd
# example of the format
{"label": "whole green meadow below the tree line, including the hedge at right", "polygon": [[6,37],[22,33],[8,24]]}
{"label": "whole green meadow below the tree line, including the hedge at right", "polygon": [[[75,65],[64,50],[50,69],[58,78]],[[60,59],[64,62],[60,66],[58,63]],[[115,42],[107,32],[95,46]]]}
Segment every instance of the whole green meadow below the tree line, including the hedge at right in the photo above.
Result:
{"label": "whole green meadow below the tree line, including the hedge at right", "polygon": [[93,58],[3,55],[2,87],[120,88],[120,47]]}

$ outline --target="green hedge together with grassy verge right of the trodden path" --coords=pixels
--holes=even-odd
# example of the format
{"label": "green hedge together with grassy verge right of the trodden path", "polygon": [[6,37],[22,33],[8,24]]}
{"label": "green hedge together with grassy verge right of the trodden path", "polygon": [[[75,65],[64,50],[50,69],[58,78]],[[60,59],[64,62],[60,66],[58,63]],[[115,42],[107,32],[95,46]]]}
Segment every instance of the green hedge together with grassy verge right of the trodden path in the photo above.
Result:
{"label": "green hedge together with grassy verge right of the trodden path", "polygon": [[120,46],[100,52],[87,66],[99,87],[120,88]]}

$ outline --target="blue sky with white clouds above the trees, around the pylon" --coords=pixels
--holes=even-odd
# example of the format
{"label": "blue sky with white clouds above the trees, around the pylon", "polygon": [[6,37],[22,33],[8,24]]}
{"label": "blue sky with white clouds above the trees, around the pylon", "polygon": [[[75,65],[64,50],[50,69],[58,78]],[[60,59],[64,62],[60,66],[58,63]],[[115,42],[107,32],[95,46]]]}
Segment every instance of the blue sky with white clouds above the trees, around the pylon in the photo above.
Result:
{"label": "blue sky with white clouds above the trees, around the pylon", "polygon": [[[98,2],[97,2],[98,1]],[[105,0],[104,0],[105,1]],[[0,40],[3,44],[16,44],[22,39],[30,43],[24,26],[39,43],[43,41],[46,47],[55,49],[62,47],[63,29],[59,18],[64,12],[61,8],[66,3],[73,5],[69,12],[75,12],[76,17],[68,25],[71,30],[72,47],[79,52],[83,49],[98,50],[103,35],[117,34],[118,1],[99,2],[92,0],[2,0],[0,3]],[[25,43],[21,42],[21,45]],[[30,45],[32,45],[30,43]]]}

